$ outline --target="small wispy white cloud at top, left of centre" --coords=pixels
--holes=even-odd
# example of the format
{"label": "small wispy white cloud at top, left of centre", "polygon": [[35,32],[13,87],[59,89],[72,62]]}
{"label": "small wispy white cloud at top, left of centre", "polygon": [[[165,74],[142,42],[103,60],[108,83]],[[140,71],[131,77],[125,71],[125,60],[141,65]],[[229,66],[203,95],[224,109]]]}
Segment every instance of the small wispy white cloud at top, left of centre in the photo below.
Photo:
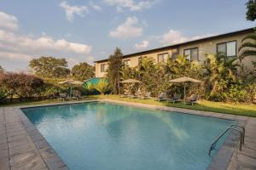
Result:
{"label": "small wispy white cloud at top, left of centre", "polygon": [[66,12],[67,20],[73,22],[74,14],[84,17],[84,13],[89,13],[86,6],[70,6],[66,1],[60,3],[60,7]]}

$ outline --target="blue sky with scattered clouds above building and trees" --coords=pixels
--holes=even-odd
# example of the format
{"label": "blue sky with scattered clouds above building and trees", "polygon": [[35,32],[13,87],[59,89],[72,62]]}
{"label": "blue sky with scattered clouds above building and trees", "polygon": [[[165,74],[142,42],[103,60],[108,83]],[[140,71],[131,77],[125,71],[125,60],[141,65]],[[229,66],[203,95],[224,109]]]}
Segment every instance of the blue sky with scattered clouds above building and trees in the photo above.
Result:
{"label": "blue sky with scattered clouds above building and trees", "polygon": [[246,0],[2,0],[0,65],[27,71],[54,56],[93,65],[116,47],[123,54],[255,26]]}

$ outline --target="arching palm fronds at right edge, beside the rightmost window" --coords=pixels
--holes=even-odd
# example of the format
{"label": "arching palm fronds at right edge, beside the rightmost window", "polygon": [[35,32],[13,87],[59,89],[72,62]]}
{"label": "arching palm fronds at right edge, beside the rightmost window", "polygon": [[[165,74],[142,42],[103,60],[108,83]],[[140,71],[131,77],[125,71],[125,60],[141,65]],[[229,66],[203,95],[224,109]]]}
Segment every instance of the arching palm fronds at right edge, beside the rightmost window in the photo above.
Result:
{"label": "arching palm fronds at right edge, beside the rightmost window", "polygon": [[256,32],[249,34],[241,40],[242,44],[239,48],[240,61],[247,56],[256,55]]}

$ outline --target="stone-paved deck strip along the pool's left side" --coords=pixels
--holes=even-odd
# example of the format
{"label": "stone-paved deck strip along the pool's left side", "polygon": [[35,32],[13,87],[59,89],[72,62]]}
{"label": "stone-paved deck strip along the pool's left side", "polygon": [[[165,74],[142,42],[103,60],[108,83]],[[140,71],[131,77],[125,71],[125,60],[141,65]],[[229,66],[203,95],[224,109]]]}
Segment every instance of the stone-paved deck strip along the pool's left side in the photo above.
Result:
{"label": "stone-paved deck strip along the pool's left side", "polygon": [[14,107],[0,108],[0,169],[67,169],[38,130]]}

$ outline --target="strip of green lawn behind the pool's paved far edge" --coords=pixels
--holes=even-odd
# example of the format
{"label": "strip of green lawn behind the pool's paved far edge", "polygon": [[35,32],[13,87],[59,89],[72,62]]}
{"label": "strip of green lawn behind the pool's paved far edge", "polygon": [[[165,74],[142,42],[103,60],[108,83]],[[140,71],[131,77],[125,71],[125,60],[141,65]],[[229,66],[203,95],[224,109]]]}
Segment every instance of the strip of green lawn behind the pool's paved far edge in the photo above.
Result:
{"label": "strip of green lawn behind the pool's paved far edge", "polygon": [[[225,114],[232,114],[232,115],[240,115],[240,116],[253,116],[256,117],[256,105],[246,105],[246,104],[229,104],[229,103],[222,103],[222,102],[211,102],[207,100],[201,100],[200,104],[198,105],[184,105],[182,102],[172,104],[167,102],[158,102],[154,101],[154,99],[127,99],[127,98],[119,98],[118,95],[106,95],[106,96],[90,96],[84,98],[84,100],[90,99],[116,99],[121,101],[129,101],[129,102],[136,102],[136,103],[143,103],[149,105],[165,105],[165,106],[172,106],[178,108],[186,108],[192,110],[199,110],[199,111],[212,111],[218,113],[225,113]],[[43,100],[43,101],[26,101],[26,102],[19,102],[19,103],[12,103],[12,104],[4,104],[0,105],[3,106],[18,106],[18,105],[42,105],[42,104],[50,104],[50,103],[61,103],[58,99],[51,99],[51,100]]]}

